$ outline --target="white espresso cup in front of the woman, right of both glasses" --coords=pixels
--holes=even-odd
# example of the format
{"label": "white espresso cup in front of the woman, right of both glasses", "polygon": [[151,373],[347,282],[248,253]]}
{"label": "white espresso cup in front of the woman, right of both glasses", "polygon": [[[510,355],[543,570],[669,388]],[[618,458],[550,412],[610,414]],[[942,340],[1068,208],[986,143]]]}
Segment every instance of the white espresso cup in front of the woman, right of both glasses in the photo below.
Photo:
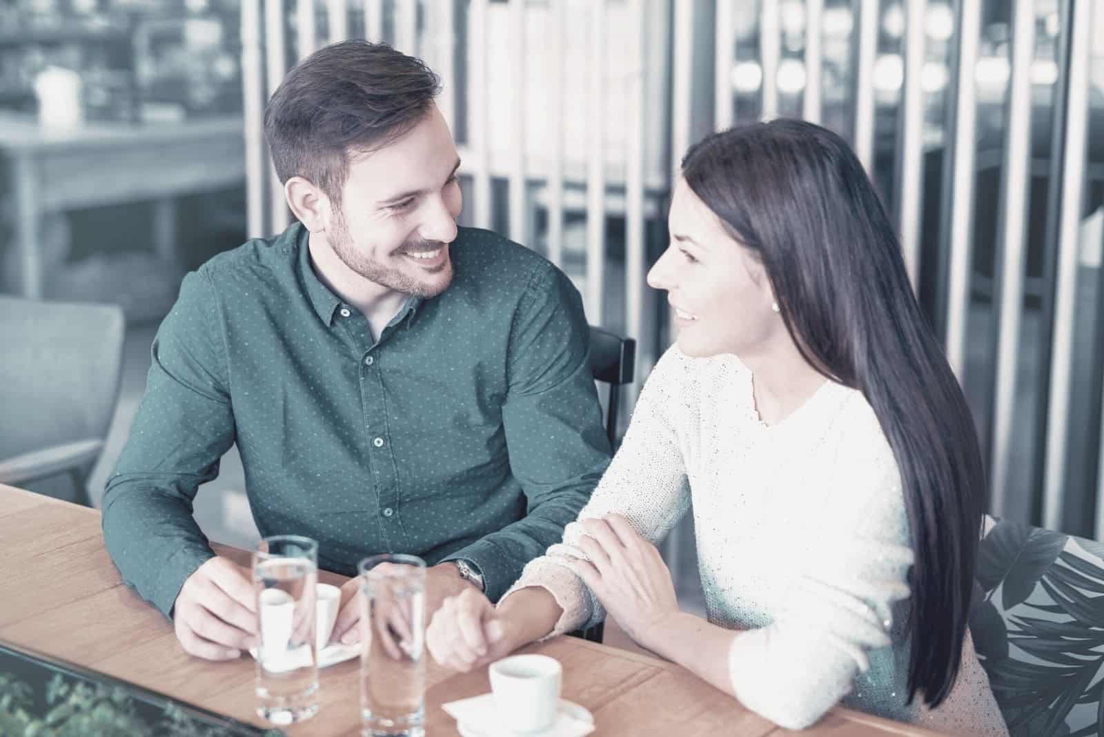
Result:
{"label": "white espresso cup in front of the woman, right of both glasses", "polygon": [[548,655],[512,655],[490,665],[490,690],[502,723],[530,733],[555,724],[563,669]]}

